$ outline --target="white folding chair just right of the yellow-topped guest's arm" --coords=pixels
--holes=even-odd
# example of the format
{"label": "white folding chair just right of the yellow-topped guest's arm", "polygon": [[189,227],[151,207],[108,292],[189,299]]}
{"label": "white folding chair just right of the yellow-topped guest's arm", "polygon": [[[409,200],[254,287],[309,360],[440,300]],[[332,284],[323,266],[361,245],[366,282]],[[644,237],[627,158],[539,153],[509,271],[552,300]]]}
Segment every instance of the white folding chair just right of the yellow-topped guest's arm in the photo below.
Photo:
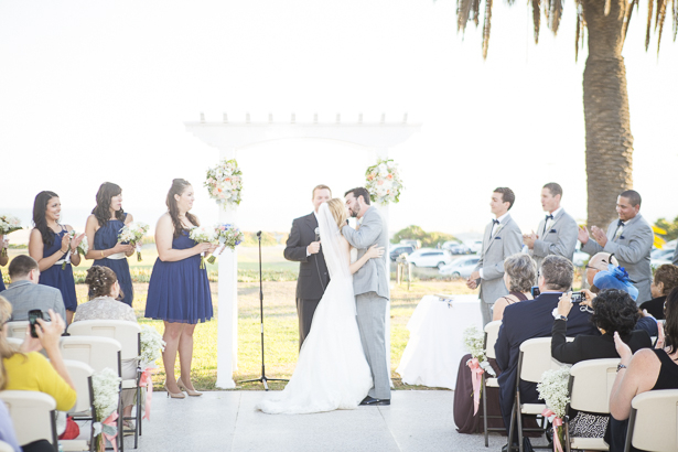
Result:
{"label": "white folding chair just right of the yellow-topped guest's arm", "polygon": [[74,420],[89,421],[89,441],[87,440],[61,440],[64,451],[90,451],[94,452],[94,422],[96,410],[94,408],[94,387],[92,375],[94,369],[79,360],[64,359],[66,370],[73,380],[77,399],[75,406],[68,411]]}

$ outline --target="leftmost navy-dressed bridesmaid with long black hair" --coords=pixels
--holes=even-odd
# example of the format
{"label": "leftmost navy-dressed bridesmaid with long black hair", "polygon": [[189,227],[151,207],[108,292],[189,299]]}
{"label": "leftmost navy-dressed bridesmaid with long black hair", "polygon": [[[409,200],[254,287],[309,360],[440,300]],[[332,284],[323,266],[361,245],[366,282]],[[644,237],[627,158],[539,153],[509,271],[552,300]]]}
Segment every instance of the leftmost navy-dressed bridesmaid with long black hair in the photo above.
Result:
{"label": "leftmost navy-dressed bridesmaid with long black hair", "polygon": [[[40,192],[33,204],[33,224],[29,237],[29,255],[37,261],[40,269],[39,283],[51,286],[62,292],[66,306],[66,322],[71,324],[73,314],[77,309],[75,295],[75,281],[73,280],[73,267],[80,263],[80,255],[77,247],[85,234],[71,239],[67,234],[73,228],[69,225],[61,225],[62,203],[54,192]],[[66,255],[71,251],[71,262],[62,269]]]}

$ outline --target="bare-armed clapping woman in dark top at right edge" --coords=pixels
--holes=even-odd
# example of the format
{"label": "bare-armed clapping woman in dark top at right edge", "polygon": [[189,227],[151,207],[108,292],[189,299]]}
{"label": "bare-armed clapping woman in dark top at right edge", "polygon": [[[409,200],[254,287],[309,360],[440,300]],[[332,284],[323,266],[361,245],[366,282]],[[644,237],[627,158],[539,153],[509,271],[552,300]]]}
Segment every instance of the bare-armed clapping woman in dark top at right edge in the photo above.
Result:
{"label": "bare-armed clapping woman in dark top at right edge", "polygon": [[[667,344],[678,344],[678,288],[674,288],[666,297],[665,334]],[[623,451],[631,415],[631,401],[638,394],[656,389],[678,389],[678,346],[664,346],[663,341],[657,348],[643,348],[635,354],[615,333],[614,343],[622,357],[612,392],[610,394],[610,437],[605,441],[610,451]],[[675,431],[666,432],[676,434]],[[632,451],[637,449],[631,448]]]}

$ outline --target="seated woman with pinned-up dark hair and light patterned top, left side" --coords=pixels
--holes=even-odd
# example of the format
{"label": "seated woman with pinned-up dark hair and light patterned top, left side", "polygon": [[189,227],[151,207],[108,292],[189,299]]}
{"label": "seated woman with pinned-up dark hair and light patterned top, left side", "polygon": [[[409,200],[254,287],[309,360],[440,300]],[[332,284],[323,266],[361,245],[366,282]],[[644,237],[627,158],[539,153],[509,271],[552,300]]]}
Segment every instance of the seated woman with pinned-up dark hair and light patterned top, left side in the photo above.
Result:
{"label": "seated woman with pinned-up dark hair and light patterned top, left side", "polygon": [[[89,286],[90,297],[86,303],[77,306],[73,322],[84,320],[127,320],[137,323],[134,310],[122,301],[118,301],[120,295],[120,283],[116,272],[108,267],[94,266],[87,270],[85,283]],[[137,359],[122,359],[122,379],[137,378]],[[134,405],[134,389],[122,389],[123,416],[130,417]],[[125,421],[128,428],[133,428],[129,421]]]}

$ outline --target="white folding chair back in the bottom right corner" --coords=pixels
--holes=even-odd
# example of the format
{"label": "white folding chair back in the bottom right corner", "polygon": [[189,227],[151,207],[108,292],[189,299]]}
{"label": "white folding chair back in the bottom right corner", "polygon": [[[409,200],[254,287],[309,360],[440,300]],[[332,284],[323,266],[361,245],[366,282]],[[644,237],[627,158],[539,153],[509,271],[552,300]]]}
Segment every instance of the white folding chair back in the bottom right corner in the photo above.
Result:
{"label": "white folding chair back in the bottom right corner", "polygon": [[677,431],[678,389],[639,394],[631,401],[624,452],[628,452],[632,444],[644,451],[678,451]]}

